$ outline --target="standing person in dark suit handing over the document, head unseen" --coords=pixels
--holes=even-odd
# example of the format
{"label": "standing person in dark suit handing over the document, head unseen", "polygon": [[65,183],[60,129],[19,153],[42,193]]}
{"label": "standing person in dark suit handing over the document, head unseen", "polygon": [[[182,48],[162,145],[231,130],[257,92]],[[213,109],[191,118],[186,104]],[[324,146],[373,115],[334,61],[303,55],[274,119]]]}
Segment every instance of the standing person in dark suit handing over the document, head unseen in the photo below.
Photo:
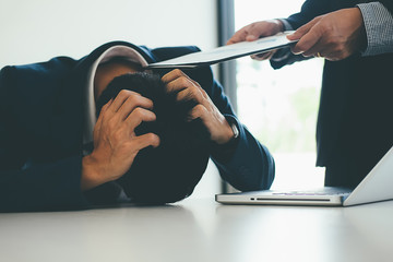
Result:
{"label": "standing person in dark suit handing over the document, head unseen", "polygon": [[285,20],[255,22],[228,44],[297,29],[296,46],[254,56],[274,69],[326,59],[317,124],[317,165],[325,186],[355,188],[393,145],[392,2],[307,0]]}

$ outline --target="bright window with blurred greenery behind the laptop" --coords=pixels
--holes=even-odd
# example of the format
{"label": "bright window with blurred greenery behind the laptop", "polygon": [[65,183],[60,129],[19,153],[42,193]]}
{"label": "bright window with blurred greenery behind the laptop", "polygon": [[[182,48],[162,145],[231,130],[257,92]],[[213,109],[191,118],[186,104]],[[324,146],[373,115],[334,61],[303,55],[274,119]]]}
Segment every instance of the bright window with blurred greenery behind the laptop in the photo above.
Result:
{"label": "bright window with blurred greenery behind the laptop", "polygon": [[[235,31],[255,21],[286,17],[303,0],[234,0]],[[273,70],[269,61],[237,59],[237,112],[276,160],[273,188],[323,186],[314,167],[315,126],[323,59]]]}

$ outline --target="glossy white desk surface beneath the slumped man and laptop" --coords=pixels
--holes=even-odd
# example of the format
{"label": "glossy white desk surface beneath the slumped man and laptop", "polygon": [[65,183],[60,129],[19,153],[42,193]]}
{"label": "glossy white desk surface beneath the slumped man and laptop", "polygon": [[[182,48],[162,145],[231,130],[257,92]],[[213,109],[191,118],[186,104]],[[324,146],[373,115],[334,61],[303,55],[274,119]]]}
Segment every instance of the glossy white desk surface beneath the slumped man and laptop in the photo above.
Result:
{"label": "glossy white desk surface beneath the slumped man and laptop", "polygon": [[221,205],[0,214],[0,261],[392,261],[393,201],[353,207]]}

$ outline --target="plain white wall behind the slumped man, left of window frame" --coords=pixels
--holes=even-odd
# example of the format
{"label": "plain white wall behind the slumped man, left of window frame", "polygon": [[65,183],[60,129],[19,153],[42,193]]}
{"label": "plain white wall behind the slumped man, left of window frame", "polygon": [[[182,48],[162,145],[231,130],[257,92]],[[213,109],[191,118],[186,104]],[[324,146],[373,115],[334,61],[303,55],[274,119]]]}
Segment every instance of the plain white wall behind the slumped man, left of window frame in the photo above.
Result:
{"label": "plain white wall behind the slumped man, left of window frame", "polygon": [[[217,45],[213,0],[0,0],[0,68],[79,59],[102,44],[127,40],[148,47]],[[194,198],[219,190],[209,168]]]}

